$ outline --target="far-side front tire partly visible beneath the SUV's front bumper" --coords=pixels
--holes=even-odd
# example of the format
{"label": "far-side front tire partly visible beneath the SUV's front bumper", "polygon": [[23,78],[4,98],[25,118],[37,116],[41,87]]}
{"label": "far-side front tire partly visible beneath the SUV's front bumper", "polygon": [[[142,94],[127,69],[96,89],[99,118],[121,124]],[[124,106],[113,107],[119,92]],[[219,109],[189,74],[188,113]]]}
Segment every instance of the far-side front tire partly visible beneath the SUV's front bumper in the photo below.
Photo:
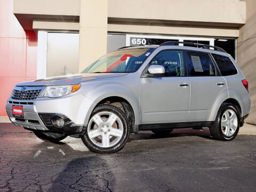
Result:
{"label": "far-side front tire partly visible beneath the SUV's front bumper", "polygon": [[51,132],[42,132],[42,131],[34,131],[36,137],[43,141],[58,143],[59,141],[65,139],[67,136],[59,133],[51,133]]}

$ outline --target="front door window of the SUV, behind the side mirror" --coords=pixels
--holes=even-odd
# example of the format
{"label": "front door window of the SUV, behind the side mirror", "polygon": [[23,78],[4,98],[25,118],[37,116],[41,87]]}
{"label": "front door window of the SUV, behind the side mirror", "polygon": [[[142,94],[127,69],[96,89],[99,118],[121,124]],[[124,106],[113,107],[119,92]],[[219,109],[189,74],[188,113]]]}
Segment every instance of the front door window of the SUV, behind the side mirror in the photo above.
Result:
{"label": "front door window of the SUV, behind the side mirror", "polygon": [[184,76],[182,51],[161,51],[152,59],[150,65],[161,65],[165,68],[165,76]]}

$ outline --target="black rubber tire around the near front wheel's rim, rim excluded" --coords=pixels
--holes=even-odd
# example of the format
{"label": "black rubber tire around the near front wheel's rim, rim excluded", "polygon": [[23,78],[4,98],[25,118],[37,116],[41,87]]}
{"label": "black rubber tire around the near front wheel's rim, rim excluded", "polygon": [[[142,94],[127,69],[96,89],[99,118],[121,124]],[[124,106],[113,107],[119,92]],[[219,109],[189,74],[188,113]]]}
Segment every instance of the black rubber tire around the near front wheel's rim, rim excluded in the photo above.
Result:
{"label": "black rubber tire around the near front wheel's rim, rim excluded", "polygon": [[[125,146],[125,143],[128,140],[128,137],[129,137],[128,120],[127,120],[125,114],[119,108],[111,106],[111,105],[100,105],[100,106],[96,107],[94,109],[94,111],[92,112],[90,119],[95,114],[103,112],[103,111],[108,111],[108,112],[114,113],[115,115],[117,115],[120,118],[120,120],[123,124],[123,135],[122,135],[121,139],[119,140],[119,142],[112,147],[107,147],[107,148],[99,147],[99,146],[95,145],[90,140],[90,138],[88,136],[88,127],[87,127],[86,134],[84,134],[81,139],[82,139],[84,145],[86,145],[91,151],[94,151],[96,153],[114,153],[118,150],[121,150],[123,148],[123,146]],[[89,121],[90,121],[90,119],[89,119]]]}

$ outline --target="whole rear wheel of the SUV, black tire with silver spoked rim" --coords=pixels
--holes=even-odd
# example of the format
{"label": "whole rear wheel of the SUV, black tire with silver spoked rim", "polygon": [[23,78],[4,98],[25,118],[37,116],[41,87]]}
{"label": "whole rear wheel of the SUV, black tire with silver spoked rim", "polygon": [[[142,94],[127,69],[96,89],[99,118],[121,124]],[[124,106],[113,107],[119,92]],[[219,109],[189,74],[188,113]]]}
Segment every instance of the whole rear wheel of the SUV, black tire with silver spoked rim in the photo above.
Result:
{"label": "whole rear wheel of the SUV, black tire with silver spoked rim", "polygon": [[[226,112],[227,115],[224,114]],[[231,117],[233,112],[235,113],[236,117]],[[225,123],[225,121],[227,121],[227,123]],[[232,123],[232,121],[234,123]],[[218,111],[214,124],[212,125],[212,127],[210,127],[210,133],[212,137],[217,140],[231,141],[235,139],[238,134],[240,127],[239,122],[240,114],[238,113],[237,107],[235,105],[232,105],[231,103],[223,103]],[[234,127],[235,125],[236,127]]]}

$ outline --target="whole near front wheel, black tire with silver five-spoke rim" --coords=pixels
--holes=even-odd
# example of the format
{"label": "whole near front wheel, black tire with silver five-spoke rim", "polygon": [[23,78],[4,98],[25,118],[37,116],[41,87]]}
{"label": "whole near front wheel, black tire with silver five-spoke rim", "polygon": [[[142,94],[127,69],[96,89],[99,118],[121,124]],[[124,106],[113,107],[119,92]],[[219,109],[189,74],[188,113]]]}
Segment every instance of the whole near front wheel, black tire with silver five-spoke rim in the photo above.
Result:
{"label": "whole near front wheel, black tire with silver five-spoke rim", "polygon": [[115,153],[125,146],[129,134],[129,122],[121,109],[99,105],[92,111],[86,134],[81,139],[90,151]]}

